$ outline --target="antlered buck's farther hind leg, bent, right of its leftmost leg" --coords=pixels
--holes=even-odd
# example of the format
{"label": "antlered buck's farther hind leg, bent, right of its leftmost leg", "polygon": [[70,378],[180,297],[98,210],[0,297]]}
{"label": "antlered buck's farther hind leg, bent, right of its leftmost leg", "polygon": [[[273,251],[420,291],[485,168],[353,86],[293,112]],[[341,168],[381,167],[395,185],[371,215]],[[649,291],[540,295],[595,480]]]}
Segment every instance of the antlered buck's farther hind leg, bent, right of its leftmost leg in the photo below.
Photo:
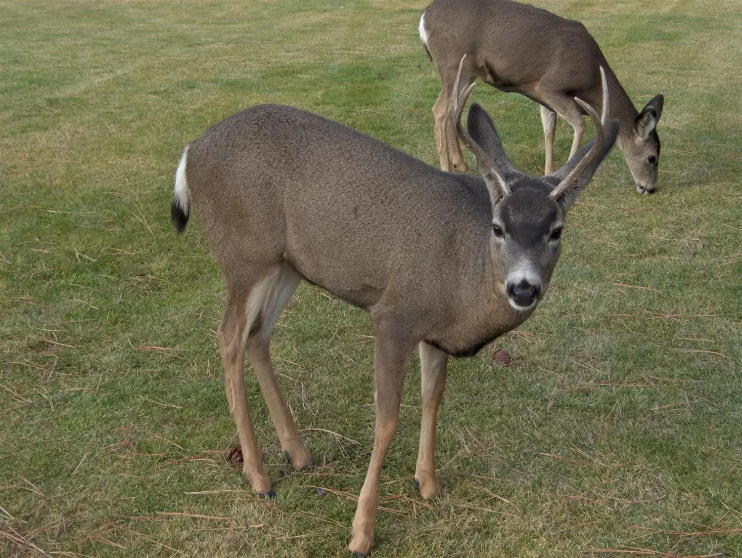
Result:
{"label": "antlered buck's farther hind leg, bent, right of its leftmost leg", "polygon": [[266,291],[263,307],[260,311],[260,328],[253,331],[247,340],[247,354],[255,370],[260,391],[266,400],[273,425],[278,432],[278,439],[286,460],[297,469],[312,465],[309,452],[299,439],[294,419],[280,393],[275,371],[270,359],[270,339],[281,310],[301,282],[301,276],[289,265],[281,265],[278,276]]}

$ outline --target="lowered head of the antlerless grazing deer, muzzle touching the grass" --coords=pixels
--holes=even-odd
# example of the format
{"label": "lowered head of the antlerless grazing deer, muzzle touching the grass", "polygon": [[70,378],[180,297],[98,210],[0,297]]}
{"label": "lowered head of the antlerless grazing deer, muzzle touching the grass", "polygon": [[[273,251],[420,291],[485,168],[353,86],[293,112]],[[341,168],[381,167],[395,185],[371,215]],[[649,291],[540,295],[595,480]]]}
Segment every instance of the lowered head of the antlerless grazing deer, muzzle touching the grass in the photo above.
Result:
{"label": "lowered head of the antlerless grazing deer, muzzle touching the grass", "polygon": [[639,193],[652,193],[657,188],[657,164],[660,161],[660,136],[657,121],[662,115],[662,94],[652,99],[634,120],[634,133],[621,142],[621,147],[634,176]]}

